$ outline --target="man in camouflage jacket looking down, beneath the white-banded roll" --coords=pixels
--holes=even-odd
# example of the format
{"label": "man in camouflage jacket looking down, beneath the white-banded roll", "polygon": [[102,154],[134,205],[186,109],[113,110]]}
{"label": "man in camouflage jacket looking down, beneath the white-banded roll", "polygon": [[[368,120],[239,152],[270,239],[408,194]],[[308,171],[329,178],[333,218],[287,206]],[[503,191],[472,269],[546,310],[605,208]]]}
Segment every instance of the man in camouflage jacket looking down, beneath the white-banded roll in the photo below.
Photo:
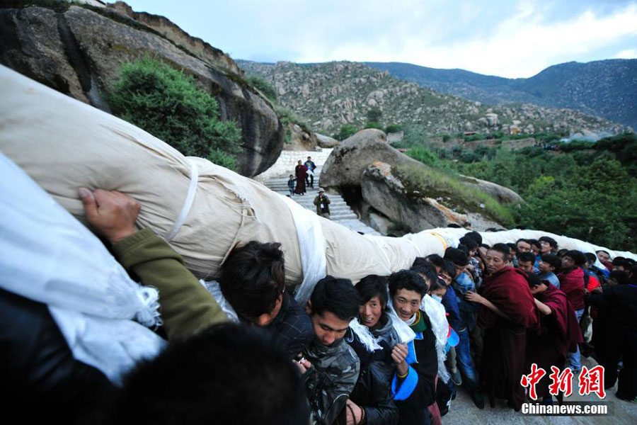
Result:
{"label": "man in camouflage jacket looking down, beneath the white-banded roll", "polygon": [[313,367],[305,373],[307,395],[316,424],[362,421],[364,410],[348,408],[360,362],[343,337],[358,314],[358,293],[352,281],[326,276],[316,283],[306,305],[314,327],[314,341],[304,356]]}

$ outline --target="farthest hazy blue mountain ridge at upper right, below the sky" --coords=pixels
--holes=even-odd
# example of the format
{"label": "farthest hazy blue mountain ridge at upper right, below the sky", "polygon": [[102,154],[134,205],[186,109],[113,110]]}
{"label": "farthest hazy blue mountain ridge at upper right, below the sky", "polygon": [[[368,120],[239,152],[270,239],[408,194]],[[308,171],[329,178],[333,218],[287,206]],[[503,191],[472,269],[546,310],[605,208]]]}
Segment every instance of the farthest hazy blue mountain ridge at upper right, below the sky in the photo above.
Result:
{"label": "farthest hazy blue mountain ridge at upper right, below the sky", "polygon": [[365,64],[389,71],[393,77],[474,101],[572,108],[637,129],[637,59],[568,62],[520,79],[401,62]]}

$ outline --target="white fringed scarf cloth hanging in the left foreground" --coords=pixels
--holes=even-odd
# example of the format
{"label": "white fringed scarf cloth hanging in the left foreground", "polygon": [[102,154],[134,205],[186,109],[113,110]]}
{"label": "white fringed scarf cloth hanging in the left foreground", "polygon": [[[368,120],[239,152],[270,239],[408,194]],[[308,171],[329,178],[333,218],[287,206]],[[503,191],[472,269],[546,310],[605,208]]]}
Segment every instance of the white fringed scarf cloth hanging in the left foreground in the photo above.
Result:
{"label": "white fringed scarf cloth hanging in the left foreground", "polygon": [[102,242],[4,154],[0,169],[0,287],[47,304],[74,358],[120,384],[165,344],[138,323],[161,323],[157,290],[130,280]]}

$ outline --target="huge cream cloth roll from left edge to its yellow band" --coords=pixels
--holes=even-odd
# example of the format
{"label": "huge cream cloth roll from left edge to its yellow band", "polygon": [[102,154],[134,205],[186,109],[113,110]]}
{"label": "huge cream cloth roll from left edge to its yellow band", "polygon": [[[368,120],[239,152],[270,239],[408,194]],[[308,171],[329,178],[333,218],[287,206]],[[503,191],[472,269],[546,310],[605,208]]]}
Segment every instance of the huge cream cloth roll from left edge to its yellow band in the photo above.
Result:
{"label": "huge cream cloth roll from left edge to its yellow band", "polygon": [[142,205],[150,227],[210,280],[237,243],[280,242],[297,300],[331,274],[357,282],[442,254],[447,241],[425,231],[402,238],[362,236],[205,159],[184,157],[113,115],[0,67],[0,149],[86,222],[77,189],[102,188]]}

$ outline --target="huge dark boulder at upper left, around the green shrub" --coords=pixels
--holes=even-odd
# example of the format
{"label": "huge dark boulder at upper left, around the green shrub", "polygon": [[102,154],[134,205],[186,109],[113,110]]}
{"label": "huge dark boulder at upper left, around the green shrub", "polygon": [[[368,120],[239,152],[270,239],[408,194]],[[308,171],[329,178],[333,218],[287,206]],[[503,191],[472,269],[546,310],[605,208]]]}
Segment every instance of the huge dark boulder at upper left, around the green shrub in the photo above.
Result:
{"label": "huge dark boulder at upper left, around the green shrub", "polygon": [[[195,39],[189,45],[185,42],[188,35],[168,25],[165,18],[146,16],[154,22],[153,28],[112,8],[50,0],[11,5],[21,3],[42,6],[0,8],[2,64],[108,111],[101,93],[119,77],[121,65],[154,55],[192,75],[217,99],[222,120],[233,120],[241,128],[243,152],[237,157],[241,174],[253,176],[276,161],[285,132],[272,104],[227,70],[230,62],[225,69],[218,66],[220,50],[207,49]],[[210,62],[214,55],[217,62]]]}

